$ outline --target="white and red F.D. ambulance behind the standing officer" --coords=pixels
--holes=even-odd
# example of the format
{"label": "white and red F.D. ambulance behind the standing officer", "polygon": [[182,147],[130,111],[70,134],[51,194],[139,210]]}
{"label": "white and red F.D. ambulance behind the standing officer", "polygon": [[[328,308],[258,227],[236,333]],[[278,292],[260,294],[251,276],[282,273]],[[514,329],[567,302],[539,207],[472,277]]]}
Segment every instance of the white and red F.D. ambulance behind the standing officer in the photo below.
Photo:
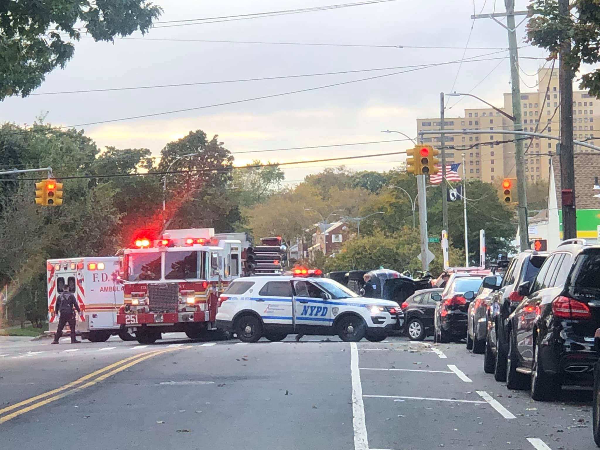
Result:
{"label": "white and red F.D. ambulance behind the standing officer", "polygon": [[[92,342],[104,342],[113,334],[134,340],[116,320],[124,299],[123,284],[118,283],[118,256],[49,259],[46,274],[50,333],[55,334],[58,327],[56,299],[67,286],[81,311],[76,315],[76,334]],[[67,324],[62,334],[69,332]]]}

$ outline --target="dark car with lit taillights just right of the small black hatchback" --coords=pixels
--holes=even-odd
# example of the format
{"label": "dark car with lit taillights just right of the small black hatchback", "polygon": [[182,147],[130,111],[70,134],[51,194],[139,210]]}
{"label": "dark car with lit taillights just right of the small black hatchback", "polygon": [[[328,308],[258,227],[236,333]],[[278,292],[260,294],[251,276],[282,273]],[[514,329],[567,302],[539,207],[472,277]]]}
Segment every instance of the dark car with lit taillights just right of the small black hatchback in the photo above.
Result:
{"label": "dark car with lit taillights just right of the small black hatchback", "polygon": [[452,274],[434,311],[434,342],[460,341],[467,336],[467,309],[483,275]]}

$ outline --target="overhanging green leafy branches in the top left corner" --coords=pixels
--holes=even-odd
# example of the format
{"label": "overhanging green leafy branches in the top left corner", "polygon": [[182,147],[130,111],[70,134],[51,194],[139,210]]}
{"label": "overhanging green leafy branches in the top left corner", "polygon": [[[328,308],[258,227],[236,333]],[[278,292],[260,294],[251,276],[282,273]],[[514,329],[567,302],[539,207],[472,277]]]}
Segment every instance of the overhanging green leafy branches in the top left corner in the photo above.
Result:
{"label": "overhanging green leafy branches in the top left corner", "polygon": [[[0,2],[0,100],[26,97],[56,67],[73,58],[80,30],[112,41],[145,33],[161,8],[146,0],[3,0]],[[68,35],[68,40],[65,39]]]}

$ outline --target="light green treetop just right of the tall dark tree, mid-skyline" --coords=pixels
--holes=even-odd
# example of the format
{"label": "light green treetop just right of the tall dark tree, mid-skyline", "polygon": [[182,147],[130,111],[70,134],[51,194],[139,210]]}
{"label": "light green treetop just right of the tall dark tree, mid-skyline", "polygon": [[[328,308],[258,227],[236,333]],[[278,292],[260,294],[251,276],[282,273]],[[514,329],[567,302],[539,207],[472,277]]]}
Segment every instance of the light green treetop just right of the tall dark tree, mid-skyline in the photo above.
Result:
{"label": "light green treetop just right of the tall dark tree, mid-skyline", "polygon": [[233,172],[232,184],[238,192],[239,204],[249,208],[256,203],[265,202],[281,188],[286,175],[279,166],[259,166],[260,160],[247,164],[248,169],[237,169]]}

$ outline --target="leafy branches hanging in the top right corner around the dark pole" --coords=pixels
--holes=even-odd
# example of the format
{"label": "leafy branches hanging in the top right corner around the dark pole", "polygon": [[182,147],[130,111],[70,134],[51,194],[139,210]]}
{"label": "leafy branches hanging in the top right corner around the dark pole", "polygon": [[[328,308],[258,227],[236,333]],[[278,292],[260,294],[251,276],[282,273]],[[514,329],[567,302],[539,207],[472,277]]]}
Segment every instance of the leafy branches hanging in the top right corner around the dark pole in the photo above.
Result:
{"label": "leafy branches hanging in the top right corner around the dark pole", "polygon": [[[533,0],[529,10],[534,16],[527,23],[527,40],[550,50],[550,58],[556,58],[560,44],[570,40],[571,51],[561,58],[575,74],[582,63],[600,61],[600,8],[597,0],[574,0],[569,8],[570,14],[560,14],[557,0]],[[600,97],[600,69],[583,74],[580,88]]]}

